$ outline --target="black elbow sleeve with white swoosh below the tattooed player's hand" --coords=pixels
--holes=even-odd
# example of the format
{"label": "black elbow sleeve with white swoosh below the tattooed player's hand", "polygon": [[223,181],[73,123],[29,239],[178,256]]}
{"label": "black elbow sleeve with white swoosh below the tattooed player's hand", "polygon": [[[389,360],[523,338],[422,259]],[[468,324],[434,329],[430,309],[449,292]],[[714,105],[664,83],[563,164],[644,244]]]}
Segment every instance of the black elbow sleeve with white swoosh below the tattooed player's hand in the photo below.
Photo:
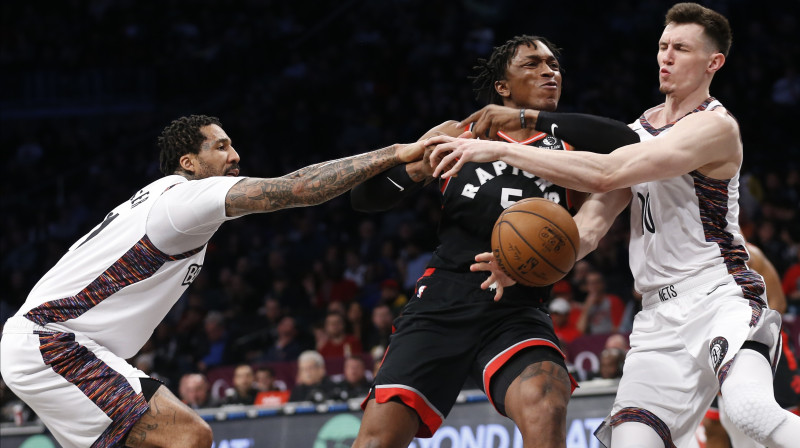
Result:
{"label": "black elbow sleeve with white swoosh below the tattooed player's hand", "polygon": [[425,182],[414,182],[404,164],[367,179],[350,190],[350,204],[360,212],[381,212],[419,191]]}

